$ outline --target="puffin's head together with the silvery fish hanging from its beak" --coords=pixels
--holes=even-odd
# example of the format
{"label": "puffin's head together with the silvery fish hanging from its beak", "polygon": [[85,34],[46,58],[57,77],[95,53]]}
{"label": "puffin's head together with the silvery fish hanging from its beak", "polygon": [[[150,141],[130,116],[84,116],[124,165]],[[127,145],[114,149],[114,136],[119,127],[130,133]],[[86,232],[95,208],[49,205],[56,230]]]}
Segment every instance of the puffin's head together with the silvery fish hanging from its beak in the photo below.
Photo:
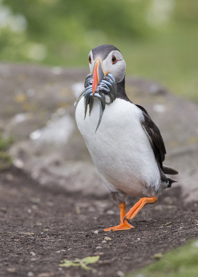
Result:
{"label": "puffin's head together with the silvery fish hanging from its beak", "polygon": [[[99,100],[100,115],[96,131],[100,125],[105,105],[111,105],[116,100],[118,84],[125,79],[126,63],[122,54],[113,45],[104,44],[93,48],[89,52],[90,74],[84,82],[84,90],[80,93],[76,105],[84,96],[84,118],[89,116],[95,99]],[[125,82],[122,82],[125,86]]]}

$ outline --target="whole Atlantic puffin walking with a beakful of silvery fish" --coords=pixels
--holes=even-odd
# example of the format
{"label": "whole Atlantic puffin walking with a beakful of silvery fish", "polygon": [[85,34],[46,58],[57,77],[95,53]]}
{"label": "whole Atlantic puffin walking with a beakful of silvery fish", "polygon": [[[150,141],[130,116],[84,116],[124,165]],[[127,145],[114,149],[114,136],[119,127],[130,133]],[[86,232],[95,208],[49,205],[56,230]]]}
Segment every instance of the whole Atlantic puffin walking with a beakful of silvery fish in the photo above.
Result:
{"label": "whole Atlantic puffin walking with a beakful of silvery fish", "polygon": [[[134,229],[130,222],[141,208],[155,203],[174,182],[165,174],[178,172],[163,165],[166,150],[159,128],[127,97],[126,63],[118,48],[93,48],[89,68],[75,120],[105,188],[119,204],[120,224],[104,231]],[[127,195],[141,199],[126,213]]]}

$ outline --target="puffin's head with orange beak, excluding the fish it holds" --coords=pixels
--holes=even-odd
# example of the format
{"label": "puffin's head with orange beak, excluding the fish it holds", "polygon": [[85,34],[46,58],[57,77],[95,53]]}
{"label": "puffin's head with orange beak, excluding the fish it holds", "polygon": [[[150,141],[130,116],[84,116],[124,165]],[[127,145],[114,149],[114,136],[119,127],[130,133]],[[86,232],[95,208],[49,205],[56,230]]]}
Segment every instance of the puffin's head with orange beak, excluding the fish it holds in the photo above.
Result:
{"label": "puffin's head with orange beak, excluding the fish it holds", "polygon": [[93,73],[93,93],[102,78],[111,73],[118,84],[125,78],[126,63],[118,48],[103,44],[89,52],[89,68]]}

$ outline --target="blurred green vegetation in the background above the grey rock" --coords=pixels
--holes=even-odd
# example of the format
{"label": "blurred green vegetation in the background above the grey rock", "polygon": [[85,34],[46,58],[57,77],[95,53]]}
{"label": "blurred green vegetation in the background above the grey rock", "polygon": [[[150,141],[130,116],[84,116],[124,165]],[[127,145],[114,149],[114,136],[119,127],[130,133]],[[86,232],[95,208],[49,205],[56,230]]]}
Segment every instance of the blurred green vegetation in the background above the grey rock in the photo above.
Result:
{"label": "blurred green vegetation in the background above the grey rock", "polygon": [[127,74],[198,102],[197,0],[0,0],[0,60],[88,66],[114,44]]}

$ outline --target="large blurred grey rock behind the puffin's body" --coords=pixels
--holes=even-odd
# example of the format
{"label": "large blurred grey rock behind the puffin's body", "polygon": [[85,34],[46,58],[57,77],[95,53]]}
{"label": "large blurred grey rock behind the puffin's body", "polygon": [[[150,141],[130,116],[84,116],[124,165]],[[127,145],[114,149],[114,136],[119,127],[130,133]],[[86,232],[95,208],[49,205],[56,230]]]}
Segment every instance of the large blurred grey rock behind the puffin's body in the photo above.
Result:
{"label": "large blurred grey rock behind the puffin's body", "polygon": [[[15,138],[10,149],[15,165],[43,186],[105,195],[75,125],[73,102],[87,73],[88,69],[0,64],[0,132]],[[175,178],[186,200],[197,200],[197,105],[141,78],[127,76],[126,90],[161,129],[168,152],[165,164],[179,170]]]}

